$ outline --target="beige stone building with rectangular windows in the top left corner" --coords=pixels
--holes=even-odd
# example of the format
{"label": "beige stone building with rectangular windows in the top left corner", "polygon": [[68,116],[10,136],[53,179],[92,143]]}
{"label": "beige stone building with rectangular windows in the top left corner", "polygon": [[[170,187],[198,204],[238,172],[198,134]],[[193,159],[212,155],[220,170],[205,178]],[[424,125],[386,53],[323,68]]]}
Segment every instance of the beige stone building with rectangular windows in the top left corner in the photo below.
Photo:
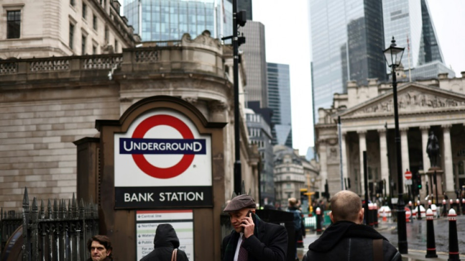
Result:
{"label": "beige stone building with rectangular windows in the top left corner", "polygon": [[121,53],[135,47],[116,0],[2,0],[0,59]]}

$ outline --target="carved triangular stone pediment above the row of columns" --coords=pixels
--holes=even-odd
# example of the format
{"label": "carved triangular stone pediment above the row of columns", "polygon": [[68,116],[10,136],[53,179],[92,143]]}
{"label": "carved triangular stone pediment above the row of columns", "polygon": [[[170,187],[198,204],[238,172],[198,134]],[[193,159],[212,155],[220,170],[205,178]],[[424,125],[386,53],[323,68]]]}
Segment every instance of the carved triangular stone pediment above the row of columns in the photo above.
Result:
{"label": "carved triangular stone pediment above the row of columns", "polygon": [[[399,115],[465,111],[465,95],[438,87],[408,83],[397,88]],[[394,113],[393,92],[379,95],[340,114],[343,118],[379,117]]]}

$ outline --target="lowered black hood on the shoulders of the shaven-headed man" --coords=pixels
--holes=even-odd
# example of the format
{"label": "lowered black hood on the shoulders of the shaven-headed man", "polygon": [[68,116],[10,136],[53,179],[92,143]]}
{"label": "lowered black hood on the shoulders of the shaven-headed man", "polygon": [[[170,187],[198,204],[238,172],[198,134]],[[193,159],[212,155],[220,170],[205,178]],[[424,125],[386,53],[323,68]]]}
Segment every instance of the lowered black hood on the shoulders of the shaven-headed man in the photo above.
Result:
{"label": "lowered black hood on the shoulders of the shaven-headed man", "polygon": [[355,224],[350,221],[339,221],[331,224],[320,238],[308,246],[308,249],[316,252],[327,252],[346,237],[382,238],[387,240],[369,226]]}

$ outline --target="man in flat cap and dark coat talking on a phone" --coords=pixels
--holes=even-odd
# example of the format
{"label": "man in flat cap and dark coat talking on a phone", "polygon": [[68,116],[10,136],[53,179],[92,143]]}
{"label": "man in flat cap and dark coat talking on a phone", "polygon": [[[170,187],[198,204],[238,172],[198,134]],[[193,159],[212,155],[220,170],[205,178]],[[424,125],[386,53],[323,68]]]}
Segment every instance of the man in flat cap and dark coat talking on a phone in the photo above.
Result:
{"label": "man in flat cap and dark coat talking on a phone", "polygon": [[234,197],[224,209],[234,230],[223,238],[222,261],[286,260],[286,229],[264,222],[255,210],[254,199],[245,194]]}

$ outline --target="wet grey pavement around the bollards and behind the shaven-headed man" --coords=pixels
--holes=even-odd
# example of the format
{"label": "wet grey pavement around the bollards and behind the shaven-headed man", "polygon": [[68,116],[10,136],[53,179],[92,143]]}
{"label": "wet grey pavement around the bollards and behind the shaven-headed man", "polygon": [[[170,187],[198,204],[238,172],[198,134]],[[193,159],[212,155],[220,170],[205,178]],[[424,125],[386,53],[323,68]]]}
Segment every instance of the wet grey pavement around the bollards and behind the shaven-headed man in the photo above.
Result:
{"label": "wet grey pavement around the bollards and behind the shaven-headed man", "polygon": [[[405,261],[446,261],[449,258],[449,219],[441,217],[435,219],[434,233],[436,242],[436,253],[438,258],[425,258],[426,255],[426,219],[414,219],[411,223],[406,223],[408,254],[402,254],[402,260]],[[397,223],[389,220],[381,222],[375,228],[380,234],[386,237],[395,247],[397,247]],[[457,235],[459,240],[460,259],[465,260],[465,216],[457,216]],[[303,248],[298,248],[297,255],[302,260],[308,245],[315,241],[317,236],[315,232],[307,231],[303,239]]]}

